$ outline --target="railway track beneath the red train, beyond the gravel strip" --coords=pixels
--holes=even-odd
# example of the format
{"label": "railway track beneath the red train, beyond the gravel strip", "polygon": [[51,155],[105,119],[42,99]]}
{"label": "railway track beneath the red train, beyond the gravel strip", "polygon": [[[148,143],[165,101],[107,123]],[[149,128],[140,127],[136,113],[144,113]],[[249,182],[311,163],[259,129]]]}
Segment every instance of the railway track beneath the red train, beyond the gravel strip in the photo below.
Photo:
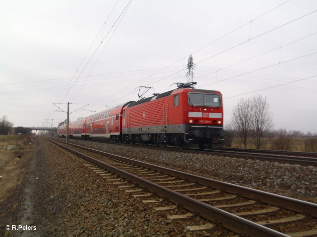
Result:
{"label": "railway track beneath the red train, beyond the gravel strip", "polygon": [[[113,143],[107,141],[95,141],[95,140],[86,140],[86,141],[94,141],[100,143]],[[121,144],[121,143],[115,143]],[[144,147],[144,145],[140,144],[126,144],[123,145],[129,146],[138,146]],[[153,149],[164,149],[170,151],[179,151],[179,152],[187,152],[187,153],[196,153],[196,154],[204,154],[204,155],[218,155],[218,156],[226,156],[226,157],[234,157],[234,158],[242,158],[249,160],[258,160],[258,161],[269,161],[269,162],[279,162],[285,164],[293,164],[293,165],[303,165],[303,166],[317,166],[317,154],[312,152],[288,152],[283,151],[275,151],[275,154],[271,154],[271,150],[255,150],[255,149],[225,149],[225,150],[204,150],[201,151],[199,149],[179,149],[177,147],[158,147],[158,146],[146,146],[151,147]],[[223,148],[221,148],[223,149]],[[238,150],[238,151],[236,151]],[[274,152],[274,151],[273,151]],[[277,155],[277,154],[287,154],[287,155]],[[304,155],[307,156],[304,156]],[[295,156],[296,155],[296,156]]]}

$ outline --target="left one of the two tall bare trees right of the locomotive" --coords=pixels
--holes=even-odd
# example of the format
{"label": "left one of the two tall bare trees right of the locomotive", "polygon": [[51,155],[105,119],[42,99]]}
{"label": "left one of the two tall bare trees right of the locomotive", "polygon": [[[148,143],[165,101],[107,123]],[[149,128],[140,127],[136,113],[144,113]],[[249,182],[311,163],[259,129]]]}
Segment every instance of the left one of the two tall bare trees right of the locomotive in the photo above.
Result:
{"label": "left one of the two tall bare trees right of the locomotive", "polygon": [[251,99],[241,98],[233,107],[231,123],[237,131],[237,137],[241,139],[244,148],[247,148],[247,141],[251,126],[250,114],[252,111]]}

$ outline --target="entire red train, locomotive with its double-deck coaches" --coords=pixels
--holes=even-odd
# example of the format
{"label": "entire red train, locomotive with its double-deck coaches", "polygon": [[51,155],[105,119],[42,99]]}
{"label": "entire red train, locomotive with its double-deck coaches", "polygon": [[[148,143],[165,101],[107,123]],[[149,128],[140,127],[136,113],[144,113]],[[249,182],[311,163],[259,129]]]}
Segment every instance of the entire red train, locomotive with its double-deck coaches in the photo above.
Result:
{"label": "entire red train, locomotive with its double-deck coaches", "polygon": [[[195,83],[195,82],[194,82]],[[128,101],[69,124],[69,137],[158,146],[217,148],[223,143],[223,101],[216,90],[189,83]],[[66,137],[66,125],[58,136]]]}

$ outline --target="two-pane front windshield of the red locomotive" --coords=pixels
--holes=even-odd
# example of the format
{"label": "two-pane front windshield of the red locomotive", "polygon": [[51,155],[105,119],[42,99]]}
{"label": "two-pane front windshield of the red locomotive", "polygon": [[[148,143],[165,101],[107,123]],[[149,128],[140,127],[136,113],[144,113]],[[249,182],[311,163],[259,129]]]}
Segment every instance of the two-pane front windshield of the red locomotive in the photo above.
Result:
{"label": "two-pane front windshield of the red locomotive", "polygon": [[220,106],[220,95],[204,94],[204,93],[189,93],[188,103],[196,106]]}

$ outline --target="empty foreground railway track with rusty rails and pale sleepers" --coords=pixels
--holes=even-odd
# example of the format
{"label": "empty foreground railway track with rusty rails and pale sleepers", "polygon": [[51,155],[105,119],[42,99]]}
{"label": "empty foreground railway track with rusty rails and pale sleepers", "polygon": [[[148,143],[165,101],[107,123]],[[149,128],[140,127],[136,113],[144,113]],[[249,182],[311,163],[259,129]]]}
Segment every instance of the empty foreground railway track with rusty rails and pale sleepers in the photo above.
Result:
{"label": "empty foreground railway track with rusty rails and pale sleepers", "polygon": [[[181,204],[211,222],[221,222],[225,228],[249,236],[317,236],[317,204],[283,197],[263,191],[232,185],[172,169],[112,155],[74,144],[58,146],[107,170],[104,175],[116,175],[131,181],[127,189],[139,198],[160,197]],[[96,168],[99,169],[99,168]],[[103,172],[103,171],[102,171]],[[121,182],[121,178],[117,180]],[[125,182],[125,181],[123,181]],[[148,191],[147,191],[148,190]],[[159,202],[158,200],[156,200]],[[162,207],[172,209],[173,206]],[[191,213],[186,215],[189,218]],[[209,228],[213,224],[209,224]],[[269,227],[269,228],[268,228]]]}

